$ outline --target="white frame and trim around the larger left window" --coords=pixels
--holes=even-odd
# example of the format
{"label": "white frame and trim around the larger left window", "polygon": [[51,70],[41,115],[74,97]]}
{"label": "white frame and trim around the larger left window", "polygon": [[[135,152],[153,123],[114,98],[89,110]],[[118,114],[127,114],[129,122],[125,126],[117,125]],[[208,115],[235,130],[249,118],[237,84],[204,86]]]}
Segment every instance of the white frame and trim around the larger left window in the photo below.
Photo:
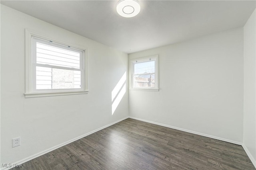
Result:
{"label": "white frame and trim around the larger left window", "polygon": [[[84,47],[78,47],[77,45],[72,45],[70,43],[66,43],[63,41],[56,40],[54,38],[47,37],[45,35],[41,35],[39,33],[32,32],[28,29],[25,30],[26,36],[26,89],[25,89],[25,98],[33,98],[33,97],[45,97],[45,96],[62,96],[62,95],[73,95],[73,94],[87,94],[87,49]],[[69,48],[74,49],[75,51],[82,51],[82,55],[80,55],[80,70],[81,70],[81,88],[72,88],[72,89],[36,89],[36,55],[35,47],[33,46],[33,41],[51,41],[51,45],[58,46],[67,46]],[[67,45],[68,44],[68,45]],[[48,65],[45,65],[48,67]],[[50,67],[50,65],[49,65]],[[54,68],[63,69],[61,66],[54,66]],[[72,70],[72,68],[70,68]],[[74,68],[74,70],[76,70]]]}

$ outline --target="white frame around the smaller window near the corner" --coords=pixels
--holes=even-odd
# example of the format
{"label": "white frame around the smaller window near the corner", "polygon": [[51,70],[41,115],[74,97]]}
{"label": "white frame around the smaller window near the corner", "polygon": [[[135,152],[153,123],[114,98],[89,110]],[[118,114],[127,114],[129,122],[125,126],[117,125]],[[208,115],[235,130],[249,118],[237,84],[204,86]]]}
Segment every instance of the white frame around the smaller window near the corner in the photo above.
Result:
{"label": "white frame around the smaller window near the corner", "polygon": [[[134,87],[134,64],[144,63],[147,61],[155,61],[155,86],[154,87]],[[149,57],[143,57],[139,59],[130,60],[130,87],[129,90],[144,90],[144,91],[159,91],[159,80],[158,80],[158,55]]]}

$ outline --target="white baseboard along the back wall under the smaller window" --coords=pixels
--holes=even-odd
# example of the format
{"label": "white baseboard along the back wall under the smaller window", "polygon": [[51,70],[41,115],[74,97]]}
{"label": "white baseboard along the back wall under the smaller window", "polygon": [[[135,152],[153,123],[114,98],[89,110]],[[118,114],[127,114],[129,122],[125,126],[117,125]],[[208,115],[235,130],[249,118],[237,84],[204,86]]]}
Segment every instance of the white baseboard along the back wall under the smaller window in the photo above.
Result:
{"label": "white baseboard along the back wall under the smaller window", "polygon": [[216,136],[212,136],[212,135],[207,135],[207,134],[199,133],[199,132],[195,132],[195,131],[190,131],[190,130],[182,129],[182,128],[179,128],[179,127],[174,127],[174,126],[165,125],[165,124],[162,124],[162,123],[157,123],[157,122],[153,122],[153,121],[139,119],[139,118],[136,118],[136,117],[129,117],[129,118],[144,121],[144,122],[148,122],[148,123],[152,123],[152,124],[155,124],[155,125],[169,127],[169,128],[172,128],[172,129],[177,129],[177,130],[188,132],[188,133],[193,133],[193,134],[204,136],[204,137],[209,137],[209,138],[212,138],[212,139],[217,139],[217,140],[228,142],[228,143],[233,143],[233,144],[236,144],[236,145],[242,145],[242,143],[240,143],[240,142],[236,142],[236,141],[232,141],[232,140],[229,140],[229,139],[224,139],[224,138],[220,138],[220,137],[216,137]]}

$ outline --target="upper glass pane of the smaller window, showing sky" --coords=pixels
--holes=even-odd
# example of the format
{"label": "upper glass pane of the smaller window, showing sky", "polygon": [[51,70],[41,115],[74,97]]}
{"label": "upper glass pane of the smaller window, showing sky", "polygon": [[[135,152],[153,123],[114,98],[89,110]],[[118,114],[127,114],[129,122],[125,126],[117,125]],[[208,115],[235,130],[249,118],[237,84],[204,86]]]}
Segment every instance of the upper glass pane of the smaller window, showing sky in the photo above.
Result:
{"label": "upper glass pane of the smaller window, showing sky", "polygon": [[134,64],[134,74],[154,73],[155,61]]}

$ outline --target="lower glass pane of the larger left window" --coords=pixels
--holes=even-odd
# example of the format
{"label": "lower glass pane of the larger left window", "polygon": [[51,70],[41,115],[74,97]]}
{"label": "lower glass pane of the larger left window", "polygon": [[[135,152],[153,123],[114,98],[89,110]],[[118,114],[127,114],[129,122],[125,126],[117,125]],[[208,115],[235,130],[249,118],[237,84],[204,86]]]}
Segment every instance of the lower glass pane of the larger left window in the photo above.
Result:
{"label": "lower glass pane of the larger left window", "polygon": [[81,71],[36,66],[36,89],[81,88]]}

